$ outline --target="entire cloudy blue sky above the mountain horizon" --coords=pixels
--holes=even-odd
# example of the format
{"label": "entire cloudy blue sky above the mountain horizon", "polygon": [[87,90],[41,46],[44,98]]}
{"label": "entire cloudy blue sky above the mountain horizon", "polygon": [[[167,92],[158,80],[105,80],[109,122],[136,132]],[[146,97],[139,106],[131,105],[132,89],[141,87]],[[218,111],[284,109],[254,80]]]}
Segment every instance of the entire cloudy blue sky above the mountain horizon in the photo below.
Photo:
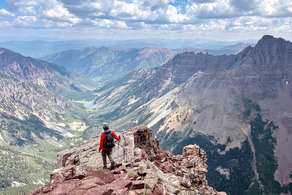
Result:
{"label": "entire cloudy blue sky above the mountain horizon", "polygon": [[292,39],[290,0],[0,0],[0,36]]}

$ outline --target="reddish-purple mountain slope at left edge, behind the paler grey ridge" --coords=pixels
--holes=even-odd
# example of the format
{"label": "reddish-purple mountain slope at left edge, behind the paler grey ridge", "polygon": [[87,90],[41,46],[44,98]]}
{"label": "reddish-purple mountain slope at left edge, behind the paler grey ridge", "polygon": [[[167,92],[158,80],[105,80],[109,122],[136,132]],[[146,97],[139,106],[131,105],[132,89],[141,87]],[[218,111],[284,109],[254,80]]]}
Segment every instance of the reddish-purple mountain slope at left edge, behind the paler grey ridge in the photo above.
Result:
{"label": "reddish-purple mountain slope at left edge, behind the paler grey ridge", "polygon": [[0,48],[0,71],[3,76],[10,75],[56,91],[61,91],[60,88],[79,88],[80,91],[85,89],[82,85],[90,86],[92,83],[68,68],[25,57],[5,48]]}

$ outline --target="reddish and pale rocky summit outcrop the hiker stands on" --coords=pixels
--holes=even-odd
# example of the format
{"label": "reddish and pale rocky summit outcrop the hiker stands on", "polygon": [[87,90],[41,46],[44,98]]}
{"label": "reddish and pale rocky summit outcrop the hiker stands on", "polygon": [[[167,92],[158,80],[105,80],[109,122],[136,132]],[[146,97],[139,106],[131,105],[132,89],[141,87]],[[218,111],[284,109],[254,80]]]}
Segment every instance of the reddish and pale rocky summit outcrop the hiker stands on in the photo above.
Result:
{"label": "reddish and pale rocky summit outcrop the hiker stands on", "polygon": [[118,142],[113,151],[117,169],[100,170],[100,137],[93,137],[59,152],[51,183],[27,195],[226,195],[208,186],[206,152],[196,144],[174,156],[159,148],[159,140],[146,126],[117,134],[121,136],[119,152]]}

